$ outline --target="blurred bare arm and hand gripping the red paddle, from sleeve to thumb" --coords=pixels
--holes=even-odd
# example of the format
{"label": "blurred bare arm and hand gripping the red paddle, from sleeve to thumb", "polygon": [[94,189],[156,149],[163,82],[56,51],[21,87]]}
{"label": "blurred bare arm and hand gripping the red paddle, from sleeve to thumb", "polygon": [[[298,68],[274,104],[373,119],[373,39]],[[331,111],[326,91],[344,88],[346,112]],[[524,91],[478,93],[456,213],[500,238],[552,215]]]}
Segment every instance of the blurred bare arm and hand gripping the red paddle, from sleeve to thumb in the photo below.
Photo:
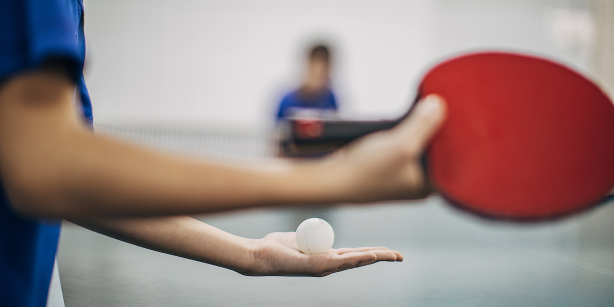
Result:
{"label": "blurred bare arm and hand gripping the red paddle, from sleeve to thumb", "polygon": [[443,115],[430,98],[343,157],[227,165],[94,134],[77,116],[70,80],[35,71],[0,84],[0,176],[18,212],[68,219],[419,198],[430,192],[419,156]]}

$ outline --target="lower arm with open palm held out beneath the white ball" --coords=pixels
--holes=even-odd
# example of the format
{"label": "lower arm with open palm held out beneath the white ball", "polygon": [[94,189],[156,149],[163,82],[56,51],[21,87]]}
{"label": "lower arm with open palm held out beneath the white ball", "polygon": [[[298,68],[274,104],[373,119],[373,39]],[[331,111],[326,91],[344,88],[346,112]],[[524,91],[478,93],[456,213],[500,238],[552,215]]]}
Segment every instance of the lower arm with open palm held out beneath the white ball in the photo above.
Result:
{"label": "lower arm with open palm held out beneath the white ball", "polygon": [[402,261],[385,247],[330,249],[316,255],[298,250],[293,232],[262,239],[231,235],[187,216],[74,220],[112,238],[249,276],[325,276],[379,261]]}

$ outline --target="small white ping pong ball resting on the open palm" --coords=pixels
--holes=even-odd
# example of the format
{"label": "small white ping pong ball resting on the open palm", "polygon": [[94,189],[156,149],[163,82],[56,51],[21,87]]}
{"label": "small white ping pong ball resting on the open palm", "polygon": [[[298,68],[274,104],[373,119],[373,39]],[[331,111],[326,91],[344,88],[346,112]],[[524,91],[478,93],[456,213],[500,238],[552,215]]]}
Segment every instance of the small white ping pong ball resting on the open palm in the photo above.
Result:
{"label": "small white ping pong ball resting on the open palm", "polygon": [[301,252],[309,255],[327,252],[333,247],[335,233],[330,224],[313,217],[304,220],[297,228],[297,245]]}

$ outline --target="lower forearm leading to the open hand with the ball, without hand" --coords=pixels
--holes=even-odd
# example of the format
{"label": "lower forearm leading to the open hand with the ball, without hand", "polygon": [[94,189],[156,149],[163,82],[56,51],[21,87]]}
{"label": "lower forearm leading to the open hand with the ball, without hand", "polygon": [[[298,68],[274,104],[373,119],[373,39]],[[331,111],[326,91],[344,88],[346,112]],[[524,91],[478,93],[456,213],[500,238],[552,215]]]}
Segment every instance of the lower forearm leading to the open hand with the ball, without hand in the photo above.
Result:
{"label": "lower forearm leading to the open hand with the ball, without hand", "polygon": [[82,227],[165,254],[222,266],[246,274],[256,240],[241,238],[188,216],[132,219],[76,219]]}

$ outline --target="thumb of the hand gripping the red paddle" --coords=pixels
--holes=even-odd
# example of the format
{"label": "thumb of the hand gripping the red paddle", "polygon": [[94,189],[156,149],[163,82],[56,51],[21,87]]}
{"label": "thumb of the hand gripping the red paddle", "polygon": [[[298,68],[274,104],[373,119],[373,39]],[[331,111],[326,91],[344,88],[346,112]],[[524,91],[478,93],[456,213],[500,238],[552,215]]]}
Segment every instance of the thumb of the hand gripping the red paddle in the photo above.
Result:
{"label": "thumb of the hand gripping the red paddle", "polygon": [[406,149],[413,154],[424,150],[446,118],[446,104],[443,97],[430,94],[422,98],[410,116],[395,127]]}

